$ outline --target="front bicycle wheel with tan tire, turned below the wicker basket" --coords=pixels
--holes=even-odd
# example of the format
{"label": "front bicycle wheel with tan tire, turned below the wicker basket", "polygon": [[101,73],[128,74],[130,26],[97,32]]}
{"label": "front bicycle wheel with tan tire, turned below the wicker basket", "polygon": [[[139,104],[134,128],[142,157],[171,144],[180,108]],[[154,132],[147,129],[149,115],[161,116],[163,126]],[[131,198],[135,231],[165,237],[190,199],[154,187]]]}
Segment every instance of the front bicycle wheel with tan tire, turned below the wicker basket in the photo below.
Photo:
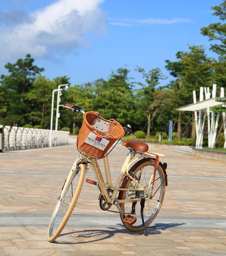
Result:
{"label": "front bicycle wheel with tan tire, turned below the wicker basket", "polygon": [[[61,196],[60,196],[59,200],[57,201],[56,206],[54,208],[52,217],[49,222],[49,228],[48,228],[48,233],[47,233],[47,240],[49,242],[55,241],[57,239],[57,237],[60,235],[60,233],[64,229],[65,225],[67,224],[67,221],[70,218],[71,213],[77,203],[77,200],[80,195],[80,191],[82,189],[82,185],[83,185],[83,182],[85,179],[85,173],[86,173],[86,168],[85,168],[84,164],[80,164],[78,167],[79,168],[76,169],[77,171],[76,170],[70,171],[68,178],[62,188],[63,194],[61,193]],[[77,181],[75,179],[77,179]],[[74,182],[75,182],[75,184],[74,184]],[[73,188],[74,186],[75,186],[75,188]],[[71,192],[69,192],[70,187],[71,187]],[[74,191],[74,193],[73,193],[73,191]],[[69,197],[68,197],[68,195],[69,195]],[[70,205],[68,206],[68,208],[65,207],[66,211],[63,210],[64,205],[65,204],[68,205],[68,203],[64,203],[65,197],[70,199]],[[61,208],[62,208],[62,215],[60,216],[61,213],[59,213],[59,212],[61,211]],[[64,211],[64,213],[63,213],[63,211]],[[58,215],[58,213],[59,213],[59,215]],[[57,216],[58,216],[58,219],[57,219]],[[57,225],[57,223],[55,225],[56,220],[59,225]]]}

